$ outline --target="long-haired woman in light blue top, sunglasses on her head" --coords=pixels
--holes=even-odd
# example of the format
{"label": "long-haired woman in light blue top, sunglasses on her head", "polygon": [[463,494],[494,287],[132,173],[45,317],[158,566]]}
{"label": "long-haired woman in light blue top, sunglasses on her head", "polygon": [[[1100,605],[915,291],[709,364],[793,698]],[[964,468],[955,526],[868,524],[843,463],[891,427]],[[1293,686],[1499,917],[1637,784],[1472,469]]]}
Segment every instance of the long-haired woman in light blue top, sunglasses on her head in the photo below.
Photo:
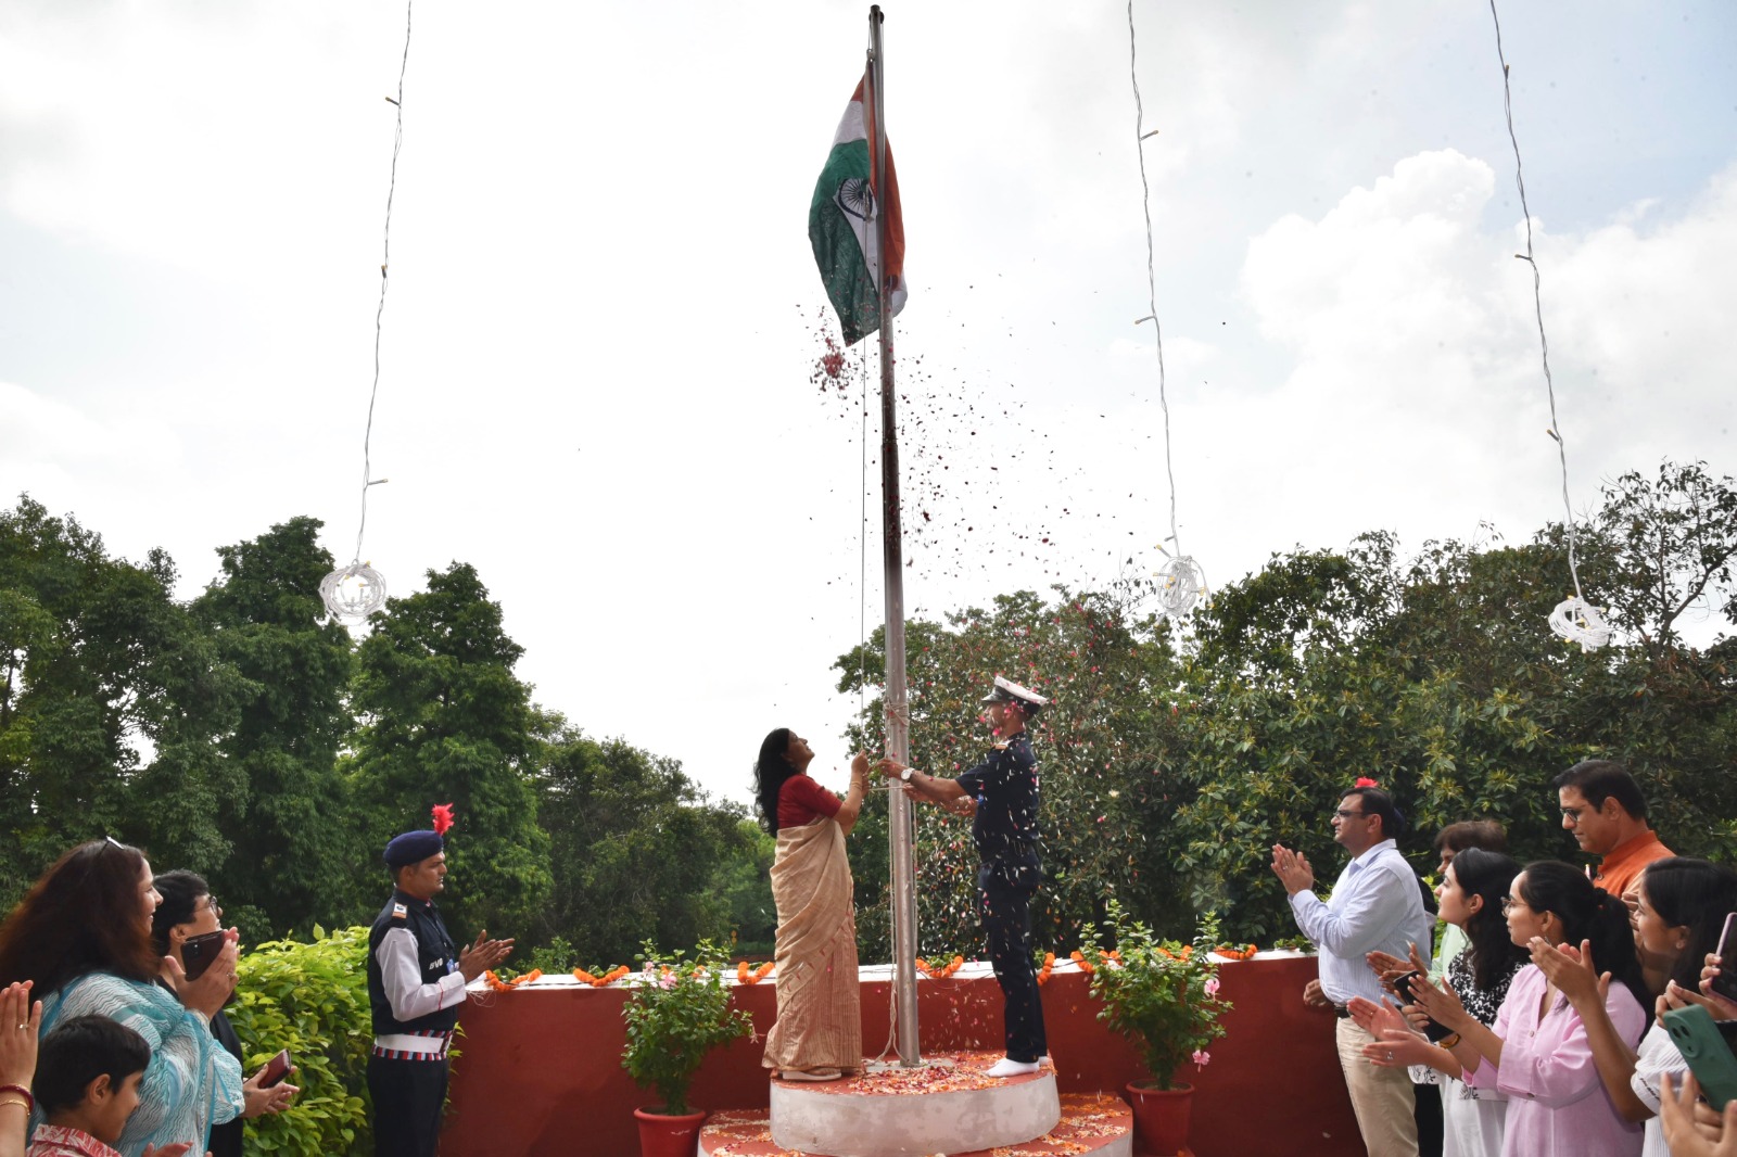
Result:
{"label": "long-haired woman in light blue top, sunglasses on her head", "polygon": [[151,943],[160,900],[144,853],[90,841],[56,860],[0,924],[0,983],[35,982],[43,1034],[97,1015],[151,1046],[139,1108],[115,1143],[125,1157],[182,1141],[205,1152],[210,1126],[241,1112],[241,1065],[210,1034],[234,990],[236,935],[198,980],[172,968],[165,987]]}

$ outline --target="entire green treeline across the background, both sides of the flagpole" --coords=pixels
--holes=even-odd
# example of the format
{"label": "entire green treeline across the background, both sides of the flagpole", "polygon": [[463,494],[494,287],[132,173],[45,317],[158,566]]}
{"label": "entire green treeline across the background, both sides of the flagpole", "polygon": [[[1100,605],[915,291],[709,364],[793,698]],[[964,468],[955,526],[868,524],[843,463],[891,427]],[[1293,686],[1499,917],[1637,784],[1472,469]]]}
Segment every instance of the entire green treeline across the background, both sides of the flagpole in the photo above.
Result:
{"label": "entire green treeline across the background, both sides of the flagpole", "polygon": [[[549,964],[604,966],[643,940],[771,949],[768,841],[667,757],[596,738],[537,705],[523,648],[481,575],[453,563],[387,603],[360,641],[321,618],[332,558],[295,518],[217,549],[195,599],[175,566],[113,558],[101,535],[24,497],[0,511],[0,902],[61,851],[115,836],[153,867],[205,874],[250,942],[365,922],[380,848],[455,804],[455,933],[490,928]],[[1188,938],[1294,933],[1273,843],[1324,879],[1327,817],[1358,777],[1388,787],[1421,872],[1442,825],[1496,817],[1522,858],[1575,860],[1549,780],[1629,766],[1664,841],[1737,858],[1737,485],[1704,464],[1624,474],[1577,526],[1588,598],[1612,646],[1555,639],[1560,525],[1511,544],[1386,532],[1296,547],[1186,622],[1150,584],[997,594],[907,624],[912,754],[957,775],[990,735],[980,698],[1006,674],[1053,700],[1034,726],[1049,879],[1039,945],[1065,952],[1108,902]],[[874,698],[853,744],[881,750],[882,634],[837,660]],[[849,841],[863,959],[888,959],[881,797]],[[919,808],[924,952],[976,954],[976,855],[964,822]],[[558,959],[559,957],[559,959]]]}

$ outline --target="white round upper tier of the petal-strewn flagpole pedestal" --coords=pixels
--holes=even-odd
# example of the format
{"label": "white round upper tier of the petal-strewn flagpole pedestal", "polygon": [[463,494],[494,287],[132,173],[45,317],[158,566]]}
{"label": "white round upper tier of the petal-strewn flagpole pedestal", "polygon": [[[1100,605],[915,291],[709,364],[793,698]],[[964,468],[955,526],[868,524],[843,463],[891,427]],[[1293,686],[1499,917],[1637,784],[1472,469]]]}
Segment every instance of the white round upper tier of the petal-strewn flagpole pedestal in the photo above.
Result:
{"label": "white round upper tier of the petal-strewn flagpole pedestal", "polygon": [[1044,1136],[1061,1119],[1056,1070],[995,1079],[988,1053],[931,1058],[921,1068],[870,1065],[849,1081],[771,1082],[771,1140],[829,1157],[964,1154]]}

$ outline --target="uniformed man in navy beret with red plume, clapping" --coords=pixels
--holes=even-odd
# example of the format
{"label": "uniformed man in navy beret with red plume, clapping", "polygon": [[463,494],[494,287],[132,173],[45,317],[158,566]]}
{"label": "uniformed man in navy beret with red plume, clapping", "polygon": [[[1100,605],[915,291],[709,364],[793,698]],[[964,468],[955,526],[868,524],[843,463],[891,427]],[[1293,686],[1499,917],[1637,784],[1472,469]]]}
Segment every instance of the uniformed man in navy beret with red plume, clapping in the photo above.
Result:
{"label": "uniformed man in navy beret with red plume, clapping", "polygon": [[[436,823],[441,818],[436,811]],[[464,987],[504,961],[512,942],[485,940],[483,933],[464,952],[453,947],[434,909],[434,896],[446,886],[446,844],[439,832],[398,836],[386,844],[386,867],[393,874],[393,898],[368,931],[373,1152],[434,1157],[446,1103],[446,1048]]]}

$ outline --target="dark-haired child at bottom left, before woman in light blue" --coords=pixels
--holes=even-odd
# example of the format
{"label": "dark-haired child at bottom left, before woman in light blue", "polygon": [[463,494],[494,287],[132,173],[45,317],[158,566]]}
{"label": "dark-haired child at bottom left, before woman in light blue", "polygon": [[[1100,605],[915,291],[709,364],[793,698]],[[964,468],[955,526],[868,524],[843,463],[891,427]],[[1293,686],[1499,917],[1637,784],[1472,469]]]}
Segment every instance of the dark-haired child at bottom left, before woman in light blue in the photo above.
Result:
{"label": "dark-haired child at bottom left, before woman in light blue", "polygon": [[[108,1016],[73,1016],[42,1039],[31,1091],[43,1124],[26,1157],[120,1157],[113,1148],[139,1107],[151,1048]],[[193,1141],[144,1147],[142,1157],[182,1157]]]}

